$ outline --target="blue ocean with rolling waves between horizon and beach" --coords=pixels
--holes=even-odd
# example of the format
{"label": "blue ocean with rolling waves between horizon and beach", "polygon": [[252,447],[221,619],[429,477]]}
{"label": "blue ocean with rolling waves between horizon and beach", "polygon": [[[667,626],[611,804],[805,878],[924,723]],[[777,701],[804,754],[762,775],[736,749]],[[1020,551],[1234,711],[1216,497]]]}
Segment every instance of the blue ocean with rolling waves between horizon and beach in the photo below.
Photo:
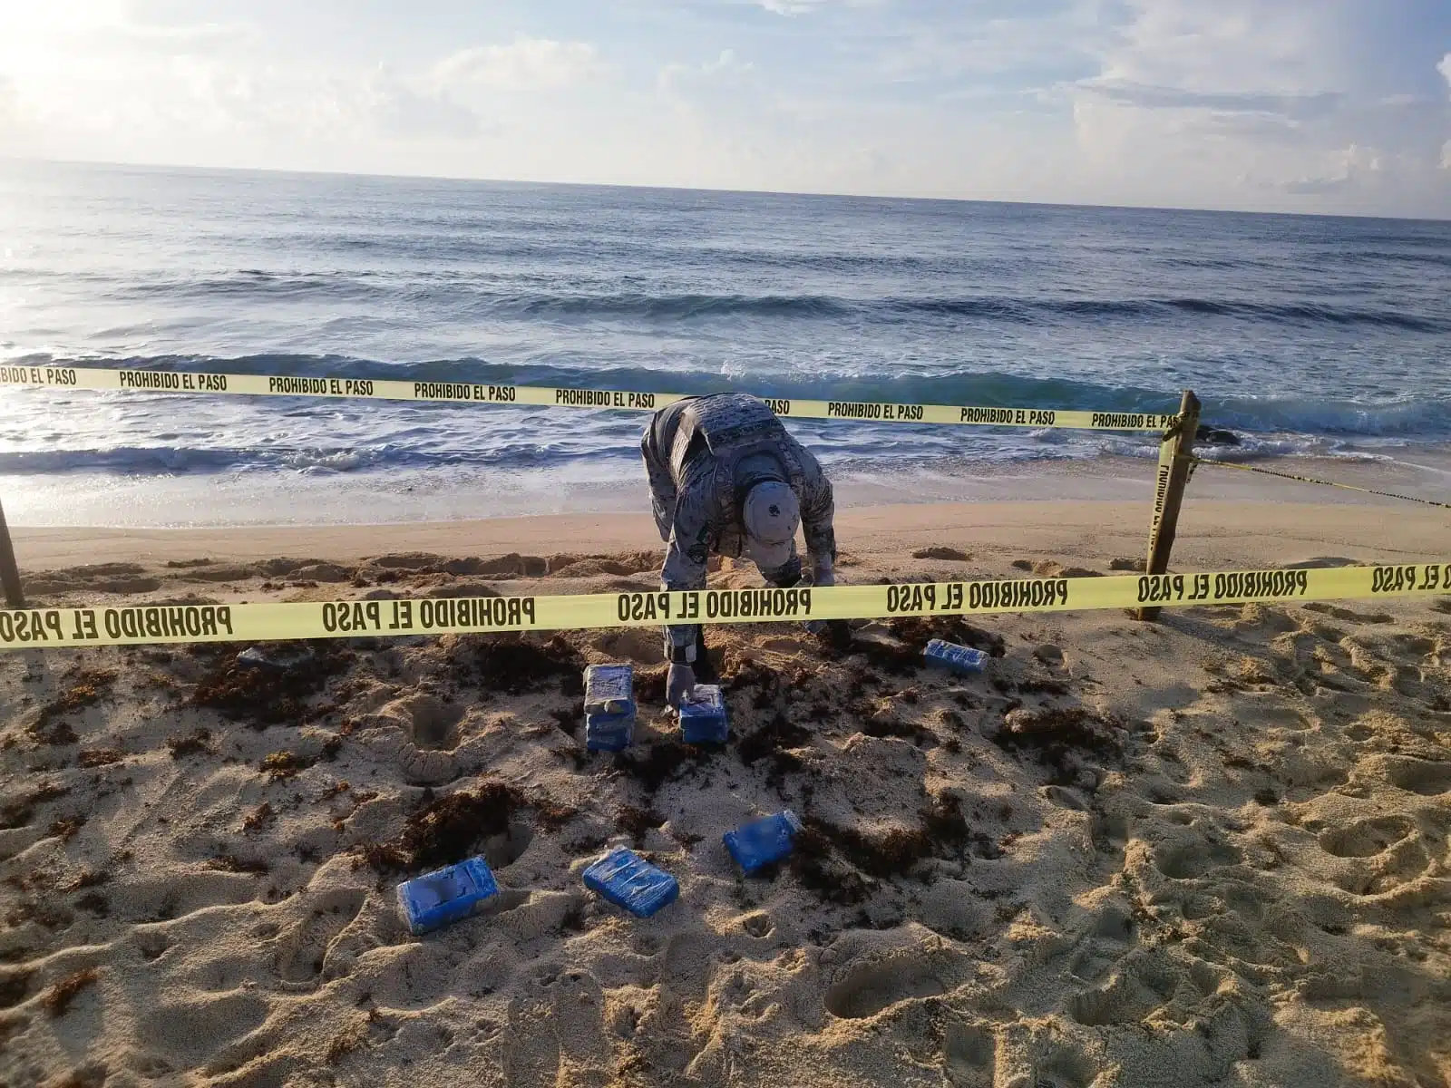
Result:
{"label": "blue ocean with rolling waves between horizon and beach", "polygon": [[[0,162],[0,363],[1126,412],[1190,387],[1239,437],[1214,456],[1415,463],[1451,445],[1448,355],[1451,222]],[[3,389],[0,500],[51,525],[638,506],[646,418]],[[1155,453],[791,429],[898,498]]]}

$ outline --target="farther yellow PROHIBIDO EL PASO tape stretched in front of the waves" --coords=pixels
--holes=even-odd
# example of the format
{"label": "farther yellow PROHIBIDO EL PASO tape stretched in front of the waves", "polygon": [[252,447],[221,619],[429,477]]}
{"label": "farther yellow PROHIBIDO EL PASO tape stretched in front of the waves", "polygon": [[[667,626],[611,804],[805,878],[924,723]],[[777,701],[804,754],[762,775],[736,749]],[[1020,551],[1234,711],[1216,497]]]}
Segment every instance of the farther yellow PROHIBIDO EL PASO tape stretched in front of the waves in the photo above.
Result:
{"label": "farther yellow PROHIBIDO EL PASO tape stretched in front of the waves", "polygon": [[[178,370],[106,367],[0,367],[0,384],[46,389],[94,389],[141,393],[234,393],[242,396],[322,396],[358,400],[431,400],[535,408],[607,408],[654,412],[686,393],[624,393],[611,389],[490,386],[473,382],[393,382],[361,377],[289,374],[202,374]],[[962,426],[1077,428],[1087,431],[1164,431],[1177,415],[1156,412],[1085,412],[1053,408],[972,408],[869,400],[797,400],[765,397],[789,419],[859,419],[881,424],[956,424]]]}

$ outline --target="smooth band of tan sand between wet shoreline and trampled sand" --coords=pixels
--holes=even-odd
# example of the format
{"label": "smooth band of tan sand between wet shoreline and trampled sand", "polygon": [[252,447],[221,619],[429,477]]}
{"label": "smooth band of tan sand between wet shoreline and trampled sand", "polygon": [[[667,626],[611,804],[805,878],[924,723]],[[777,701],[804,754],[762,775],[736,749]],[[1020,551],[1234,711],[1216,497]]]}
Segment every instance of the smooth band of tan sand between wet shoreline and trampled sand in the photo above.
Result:
{"label": "smooth band of tan sand between wet shoreline and trampled sand", "polygon": [[[1371,496],[1373,498],[1373,496]],[[1364,503],[1390,505],[1392,500]],[[1273,567],[1318,557],[1357,561],[1435,559],[1447,550],[1448,515],[1394,503],[1364,516],[1360,503],[1185,502],[1174,548],[1177,569]],[[837,512],[837,541],[849,554],[907,554],[950,544],[979,557],[1069,553],[1107,563],[1148,551],[1149,502],[958,502],[855,506]],[[647,514],[575,514],[424,524],[90,528],[12,527],[22,573],[100,563],[167,564],[207,559],[357,560],[389,553],[443,556],[509,553],[609,554],[662,551]],[[898,572],[901,569],[897,569]]]}

